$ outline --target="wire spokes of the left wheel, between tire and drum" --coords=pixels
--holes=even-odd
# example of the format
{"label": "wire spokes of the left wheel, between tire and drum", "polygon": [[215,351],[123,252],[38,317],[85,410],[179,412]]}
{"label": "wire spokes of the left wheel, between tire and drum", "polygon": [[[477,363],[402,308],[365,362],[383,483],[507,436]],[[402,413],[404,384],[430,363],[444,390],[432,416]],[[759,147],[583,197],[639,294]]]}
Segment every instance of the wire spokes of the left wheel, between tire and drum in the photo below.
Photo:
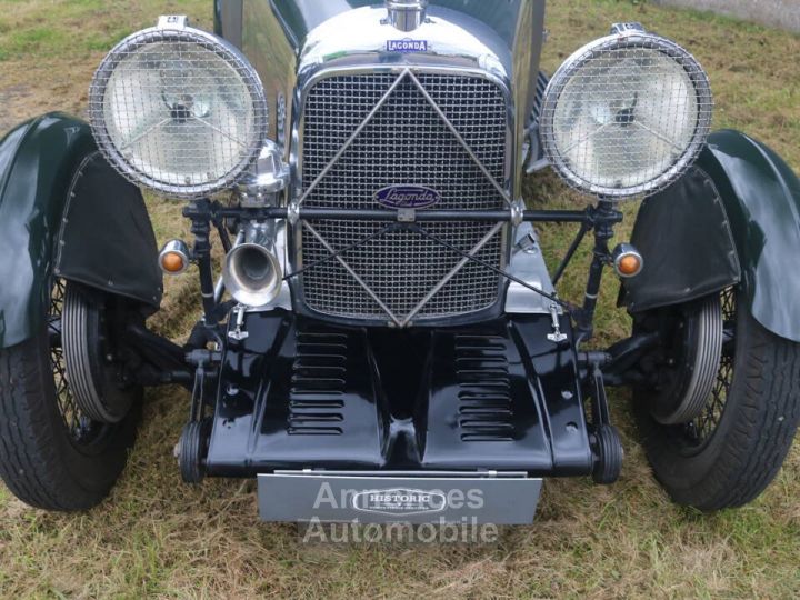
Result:
{"label": "wire spokes of the left wheel, between tire and drum", "polygon": [[63,316],[67,283],[56,279],[50,297],[50,312],[48,314],[48,334],[50,341],[50,366],[56,387],[56,401],[59,413],[70,441],[78,447],[92,444],[103,434],[103,424],[92,421],[78,406],[76,397],[67,377],[67,362],[64,361],[61,343],[61,318]]}

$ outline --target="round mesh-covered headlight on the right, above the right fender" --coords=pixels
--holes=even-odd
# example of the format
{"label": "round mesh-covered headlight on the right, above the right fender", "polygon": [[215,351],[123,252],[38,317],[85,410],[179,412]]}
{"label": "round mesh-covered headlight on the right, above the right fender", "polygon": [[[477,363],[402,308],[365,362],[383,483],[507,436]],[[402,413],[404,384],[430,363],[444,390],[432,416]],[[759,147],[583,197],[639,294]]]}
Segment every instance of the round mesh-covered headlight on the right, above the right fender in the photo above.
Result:
{"label": "round mesh-covered headlight on the right, above the right fender", "polygon": [[708,76],[674,42],[618,29],[570,57],[544,93],[540,136],[558,173],[608,199],[653,193],[694,161],[708,138]]}

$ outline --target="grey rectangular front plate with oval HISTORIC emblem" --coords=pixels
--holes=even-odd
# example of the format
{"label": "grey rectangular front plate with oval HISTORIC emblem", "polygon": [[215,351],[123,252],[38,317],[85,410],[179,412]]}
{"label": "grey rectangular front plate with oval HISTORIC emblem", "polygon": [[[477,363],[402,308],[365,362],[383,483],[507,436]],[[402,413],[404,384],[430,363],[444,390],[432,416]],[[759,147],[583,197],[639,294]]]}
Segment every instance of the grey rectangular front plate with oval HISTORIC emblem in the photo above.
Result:
{"label": "grey rectangular front plate with oval HISTORIC emblem", "polygon": [[277,471],[258,476],[258,502],[263,521],[529,524],[541,486],[519,472]]}

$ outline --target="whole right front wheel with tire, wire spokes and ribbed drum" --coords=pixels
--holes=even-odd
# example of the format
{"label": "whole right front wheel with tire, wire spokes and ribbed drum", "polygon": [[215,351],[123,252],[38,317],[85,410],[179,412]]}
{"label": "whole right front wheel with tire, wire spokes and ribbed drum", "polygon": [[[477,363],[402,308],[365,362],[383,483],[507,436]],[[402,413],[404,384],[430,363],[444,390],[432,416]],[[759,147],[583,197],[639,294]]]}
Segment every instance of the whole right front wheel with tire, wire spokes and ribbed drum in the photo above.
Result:
{"label": "whole right front wheel with tire, wire spokes and ribbed drum", "polygon": [[656,477],[678,503],[703,511],[750,502],[774,479],[798,428],[800,344],[761,327],[736,289],[637,323],[664,341],[646,364],[650,384],[633,394]]}

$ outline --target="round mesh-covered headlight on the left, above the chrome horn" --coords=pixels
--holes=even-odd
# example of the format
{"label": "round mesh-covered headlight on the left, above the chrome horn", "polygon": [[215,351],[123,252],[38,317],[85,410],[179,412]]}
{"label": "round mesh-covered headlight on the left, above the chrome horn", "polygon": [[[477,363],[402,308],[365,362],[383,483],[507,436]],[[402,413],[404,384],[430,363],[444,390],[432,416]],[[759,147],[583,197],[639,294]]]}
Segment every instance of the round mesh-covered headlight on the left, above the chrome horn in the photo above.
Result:
{"label": "round mesh-covered headlight on the left, above the chrome horn", "polygon": [[124,177],[180,198],[230,187],[267,134],[263,87],[247,59],[178,18],[111,50],[94,74],[89,116]]}

